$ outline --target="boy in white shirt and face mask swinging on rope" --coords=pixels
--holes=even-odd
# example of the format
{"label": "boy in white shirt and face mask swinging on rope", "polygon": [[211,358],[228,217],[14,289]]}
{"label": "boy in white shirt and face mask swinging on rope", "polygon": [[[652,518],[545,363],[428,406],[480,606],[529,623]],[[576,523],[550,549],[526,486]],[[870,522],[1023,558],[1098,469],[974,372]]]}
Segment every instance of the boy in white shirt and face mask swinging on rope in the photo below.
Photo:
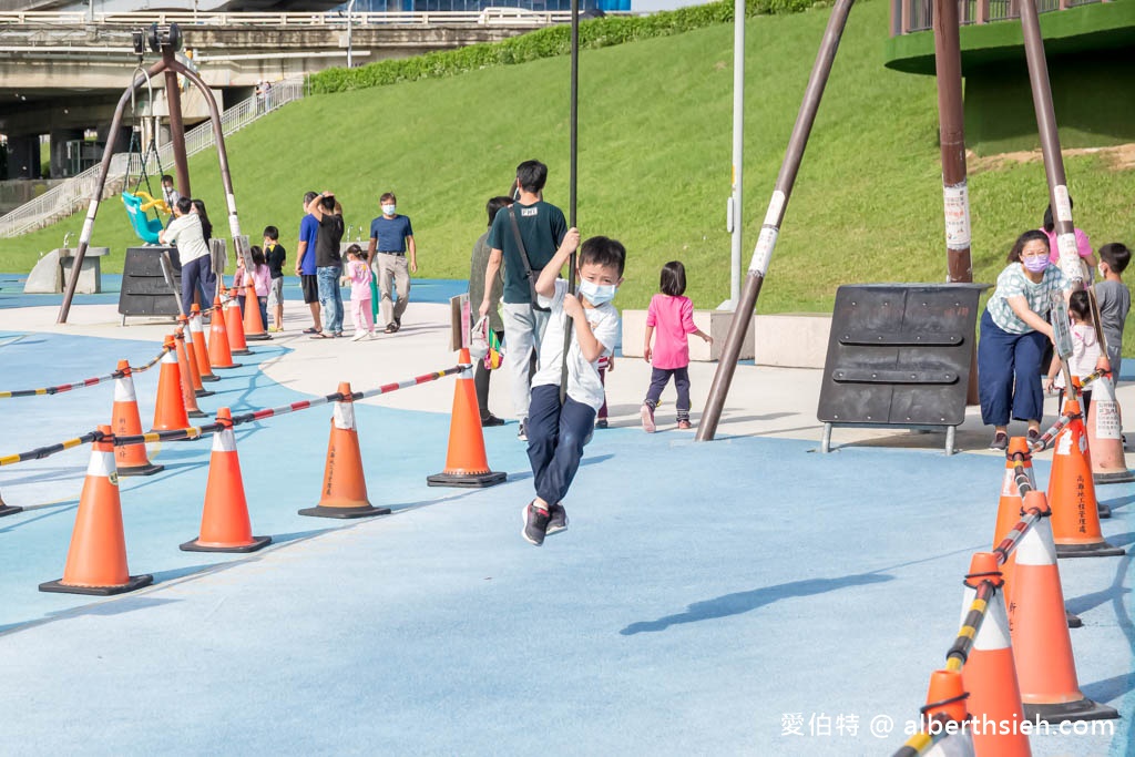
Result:
{"label": "boy in white shirt and face mask swinging on rope", "polygon": [[[579,230],[569,229],[555,256],[536,283],[539,305],[549,308],[548,326],[540,340],[528,411],[528,459],[532,463],[536,498],[524,505],[521,535],[540,546],[544,537],[568,528],[562,499],[583,456],[583,445],[603,406],[599,356],[614,347],[619,312],[611,304],[623,281],[627,250],[615,239],[592,236],[580,247],[579,293],[568,292],[560,271],[579,246]],[[560,402],[565,331],[571,342],[566,358],[566,392]]]}

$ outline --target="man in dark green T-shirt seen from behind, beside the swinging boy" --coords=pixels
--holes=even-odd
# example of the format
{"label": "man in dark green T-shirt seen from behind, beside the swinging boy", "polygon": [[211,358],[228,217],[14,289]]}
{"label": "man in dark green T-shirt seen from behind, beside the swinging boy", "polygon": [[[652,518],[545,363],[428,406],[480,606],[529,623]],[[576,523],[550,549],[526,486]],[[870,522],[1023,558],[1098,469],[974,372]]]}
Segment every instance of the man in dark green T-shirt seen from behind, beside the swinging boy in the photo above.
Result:
{"label": "man in dark green T-shirt seen from behind, beside the swinging boy", "polygon": [[[544,202],[540,192],[548,179],[548,167],[526,160],[516,167],[520,200],[497,212],[489,229],[489,263],[485,280],[491,281],[504,261],[504,336],[508,348],[505,362],[512,373],[512,404],[520,430],[528,439],[528,405],[531,401],[531,358],[548,322],[548,309],[535,301],[536,281],[555,255],[568,234],[562,210]],[[486,316],[491,306],[489,292],[481,297],[478,312]]]}

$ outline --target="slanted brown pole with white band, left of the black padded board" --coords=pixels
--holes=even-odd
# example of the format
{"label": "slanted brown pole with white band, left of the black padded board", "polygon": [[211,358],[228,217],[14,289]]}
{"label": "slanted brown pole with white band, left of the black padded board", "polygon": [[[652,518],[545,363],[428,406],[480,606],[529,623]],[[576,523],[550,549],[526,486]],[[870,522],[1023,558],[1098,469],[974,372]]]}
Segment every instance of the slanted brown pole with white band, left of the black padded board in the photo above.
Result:
{"label": "slanted brown pole with white band, left of the black padded board", "polygon": [[706,410],[701,415],[700,423],[698,423],[696,437],[698,441],[712,441],[717,432],[717,421],[721,420],[721,411],[725,404],[725,396],[729,394],[729,385],[733,380],[737,360],[741,354],[741,342],[745,340],[749,319],[753,317],[757,296],[760,294],[760,285],[768,271],[768,262],[772,260],[773,249],[776,246],[776,236],[780,234],[780,226],[784,220],[784,209],[792,194],[792,185],[796,183],[796,175],[800,169],[800,161],[804,159],[804,150],[808,146],[808,135],[812,133],[812,125],[816,120],[816,111],[819,109],[819,99],[824,94],[827,75],[832,70],[835,51],[840,47],[840,37],[854,3],[855,0],[836,0],[832,8],[832,15],[827,19],[824,40],[816,54],[816,62],[812,67],[812,75],[808,77],[808,89],[805,90],[804,102],[800,103],[800,111],[797,113],[796,125],[792,127],[792,136],[789,138],[788,151],[784,153],[784,162],[781,163],[776,186],[768,201],[765,222],[760,227],[760,236],[757,238],[753,258],[749,260],[749,271],[745,277],[741,300],[737,303],[737,312],[733,314],[733,320],[729,326],[729,335],[725,337],[725,347],[717,362],[713,384],[709,386]]}

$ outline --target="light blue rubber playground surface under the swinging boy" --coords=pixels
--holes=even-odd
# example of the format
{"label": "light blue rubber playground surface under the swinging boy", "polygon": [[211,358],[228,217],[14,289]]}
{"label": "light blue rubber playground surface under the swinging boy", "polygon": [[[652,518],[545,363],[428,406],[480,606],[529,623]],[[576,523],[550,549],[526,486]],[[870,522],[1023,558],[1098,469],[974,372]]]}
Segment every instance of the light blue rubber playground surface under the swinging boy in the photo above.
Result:
{"label": "light blue rubber playground surface under the swinging boy", "polygon": [[[258,367],[285,347],[253,348],[205,412],[305,398]],[[0,389],[157,351],[0,330]],[[404,378],[382,367],[373,386]],[[146,427],[157,379],[135,381]],[[107,422],[112,394],[0,399],[0,455]],[[393,514],[299,515],[319,499],[329,417],[237,428],[253,532],[274,539],[251,555],[178,550],[210,441],[152,446],[166,470],[120,479],[120,497],[131,572],[154,584],[111,598],[37,590],[62,574],[90,448],[0,468],[25,507],[0,519],[0,752],[891,755],[958,631],[1003,473],[991,455],[609,429],[564,503],[569,530],[535,548],[514,426],[486,431],[507,482],[430,488],[448,417],[380,403],[356,422],[371,502]],[[1098,491],[1104,536],[1129,546],[1135,485]],[[1081,688],[1123,717],[1111,734],[1034,737],[1033,754],[1132,754],[1130,557],[1060,567],[1084,621]]]}

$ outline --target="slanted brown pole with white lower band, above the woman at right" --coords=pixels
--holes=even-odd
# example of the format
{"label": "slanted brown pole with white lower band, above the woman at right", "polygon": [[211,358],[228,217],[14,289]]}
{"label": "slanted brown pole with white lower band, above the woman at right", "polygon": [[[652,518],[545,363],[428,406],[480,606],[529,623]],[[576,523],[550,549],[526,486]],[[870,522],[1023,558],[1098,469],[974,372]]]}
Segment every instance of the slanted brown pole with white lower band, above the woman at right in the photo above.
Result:
{"label": "slanted brown pole with white lower band, above the woman at right", "polygon": [[1060,153],[1060,135],[1057,133],[1057,117],[1052,109],[1052,87],[1049,85],[1049,66],[1044,60],[1044,41],[1041,39],[1041,23],[1032,1],[1020,3],[1020,30],[1025,36],[1025,59],[1028,62],[1028,82],[1033,90],[1033,108],[1036,110],[1036,128],[1041,136],[1041,152],[1044,155],[1044,176],[1049,183],[1049,202],[1056,221],[1057,247],[1060,250],[1060,268],[1073,281],[1073,288],[1084,287],[1084,269],[1076,250],[1076,228],[1071,221],[1071,201],[1068,199],[1068,183],[1065,178],[1063,157]]}

